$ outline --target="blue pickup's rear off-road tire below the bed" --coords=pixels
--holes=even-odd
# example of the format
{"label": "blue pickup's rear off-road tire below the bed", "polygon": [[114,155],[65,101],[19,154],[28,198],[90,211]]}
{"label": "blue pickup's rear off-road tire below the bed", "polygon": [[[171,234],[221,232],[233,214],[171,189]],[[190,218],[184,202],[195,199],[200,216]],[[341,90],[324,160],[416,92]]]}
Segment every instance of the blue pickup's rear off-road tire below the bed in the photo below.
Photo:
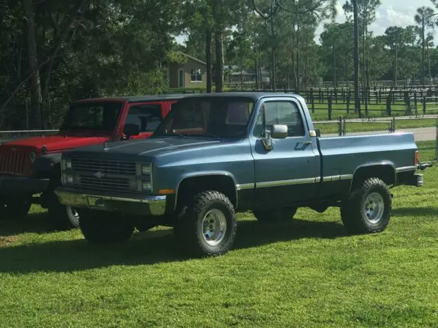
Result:
{"label": "blue pickup's rear off-road tire below the bed", "polygon": [[[383,212],[375,220],[370,220],[367,215],[367,205],[370,196],[378,194],[383,204],[374,202],[374,208],[382,208]],[[379,198],[379,197],[377,197]],[[368,202],[367,202],[368,201]],[[380,202],[378,202],[380,203]],[[373,204],[373,203],[371,203]],[[350,193],[350,197],[341,205],[341,219],[348,232],[351,234],[367,234],[385,230],[391,217],[392,197],[383,180],[370,178],[365,180],[360,187]]]}

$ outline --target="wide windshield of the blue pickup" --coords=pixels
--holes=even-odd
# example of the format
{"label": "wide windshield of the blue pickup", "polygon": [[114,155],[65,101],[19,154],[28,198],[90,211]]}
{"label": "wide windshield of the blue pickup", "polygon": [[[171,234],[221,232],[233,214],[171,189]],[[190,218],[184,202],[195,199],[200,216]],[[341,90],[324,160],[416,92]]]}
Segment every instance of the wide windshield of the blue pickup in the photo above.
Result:
{"label": "wide windshield of the blue pickup", "polygon": [[241,139],[246,134],[253,108],[254,100],[243,97],[179,100],[152,137],[178,135]]}

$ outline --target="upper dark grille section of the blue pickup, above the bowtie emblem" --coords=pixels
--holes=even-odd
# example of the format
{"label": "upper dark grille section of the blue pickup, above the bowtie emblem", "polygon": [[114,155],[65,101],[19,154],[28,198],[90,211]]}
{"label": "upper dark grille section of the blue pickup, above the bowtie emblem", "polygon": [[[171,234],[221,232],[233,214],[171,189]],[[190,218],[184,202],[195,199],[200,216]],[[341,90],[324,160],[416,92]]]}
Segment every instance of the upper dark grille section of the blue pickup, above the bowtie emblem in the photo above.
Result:
{"label": "upper dark grille section of the blue pickup, above the bowtie emblem", "polygon": [[[72,169],[82,172],[136,175],[136,163],[105,159],[72,159]],[[101,179],[98,179],[101,180]]]}

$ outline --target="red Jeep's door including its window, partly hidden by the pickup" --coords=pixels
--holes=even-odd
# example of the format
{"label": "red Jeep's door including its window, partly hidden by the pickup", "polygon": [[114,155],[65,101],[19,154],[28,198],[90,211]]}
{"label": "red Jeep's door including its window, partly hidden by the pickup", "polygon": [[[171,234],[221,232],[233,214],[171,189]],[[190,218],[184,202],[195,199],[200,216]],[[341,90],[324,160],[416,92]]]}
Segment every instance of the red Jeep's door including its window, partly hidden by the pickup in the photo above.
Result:
{"label": "red Jeep's door including its window, partly hidden by the pickup", "polygon": [[132,136],[131,139],[146,139],[151,137],[164,116],[165,102],[144,102],[129,104],[125,124],[137,124],[140,127],[140,135]]}

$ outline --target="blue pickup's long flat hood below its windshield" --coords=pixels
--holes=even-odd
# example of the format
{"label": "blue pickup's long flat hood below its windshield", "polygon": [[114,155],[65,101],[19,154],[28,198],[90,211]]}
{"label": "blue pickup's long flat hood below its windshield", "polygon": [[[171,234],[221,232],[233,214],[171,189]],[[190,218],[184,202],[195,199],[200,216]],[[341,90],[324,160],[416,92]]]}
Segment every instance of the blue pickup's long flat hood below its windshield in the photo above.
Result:
{"label": "blue pickup's long flat hood below its windshield", "polygon": [[90,146],[86,148],[79,148],[68,152],[70,156],[148,156],[153,157],[157,155],[166,154],[169,152],[178,152],[188,150],[191,148],[203,148],[213,146],[227,141],[220,141],[211,138],[201,137],[164,137],[144,139],[139,141],[118,141],[107,143],[104,146]]}

